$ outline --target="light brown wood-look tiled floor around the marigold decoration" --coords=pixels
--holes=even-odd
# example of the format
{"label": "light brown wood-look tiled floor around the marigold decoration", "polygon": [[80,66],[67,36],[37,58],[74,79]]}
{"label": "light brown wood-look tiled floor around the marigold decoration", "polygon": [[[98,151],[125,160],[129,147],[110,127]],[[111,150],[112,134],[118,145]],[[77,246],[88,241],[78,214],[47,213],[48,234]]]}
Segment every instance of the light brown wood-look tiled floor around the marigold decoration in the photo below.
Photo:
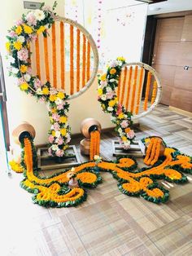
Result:
{"label": "light brown wood-look tiled floor around the marigold decoration", "polygon": [[[192,118],[160,105],[140,124],[137,139],[160,135],[169,146],[192,156]],[[103,134],[103,158],[112,158],[114,135]],[[191,175],[184,185],[164,182],[170,201],[163,205],[123,195],[111,174],[102,173],[103,183],[88,190],[82,205],[44,209],[33,205],[32,195],[19,187],[22,174],[0,174],[2,256],[192,255]]]}

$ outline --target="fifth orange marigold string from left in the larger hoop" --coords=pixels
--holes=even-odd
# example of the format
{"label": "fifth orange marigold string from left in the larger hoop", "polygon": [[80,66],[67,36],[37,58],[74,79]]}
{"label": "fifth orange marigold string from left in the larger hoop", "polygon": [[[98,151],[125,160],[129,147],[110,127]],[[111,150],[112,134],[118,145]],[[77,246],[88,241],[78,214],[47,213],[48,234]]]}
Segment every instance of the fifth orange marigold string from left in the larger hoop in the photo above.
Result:
{"label": "fifth orange marigold string from left in the larger hoop", "polygon": [[73,26],[70,25],[70,95],[74,93],[73,39]]}

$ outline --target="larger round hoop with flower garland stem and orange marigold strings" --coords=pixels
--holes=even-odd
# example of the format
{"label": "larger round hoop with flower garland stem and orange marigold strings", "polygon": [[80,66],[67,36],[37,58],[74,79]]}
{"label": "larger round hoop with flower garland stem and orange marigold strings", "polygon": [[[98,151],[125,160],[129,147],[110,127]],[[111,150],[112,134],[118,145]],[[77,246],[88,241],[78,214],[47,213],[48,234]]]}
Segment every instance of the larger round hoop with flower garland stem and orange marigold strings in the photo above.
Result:
{"label": "larger round hoop with flower garland stem and orange marigold strings", "polygon": [[[77,24],[73,20],[56,16],[56,13],[54,12],[55,7],[56,2],[52,10],[50,9],[50,7],[46,7],[44,6],[44,4],[42,4],[40,10],[29,11],[27,15],[22,15],[22,19],[18,20],[15,26],[13,26],[9,30],[9,35],[7,36],[8,42],[6,46],[8,51],[7,59],[10,61],[9,72],[10,75],[18,78],[18,86],[20,87],[20,90],[24,90],[25,93],[35,96],[37,100],[40,100],[41,102],[46,102],[48,105],[51,123],[51,128],[49,130],[50,156],[63,157],[64,152],[68,148],[68,143],[71,139],[71,128],[68,125],[69,104],[67,100],[74,99],[77,96],[83,94],[85,90],[87,90],[89,86],[91,86],[91,84],[94,82],[94,78],[96,77],[98,71],[98,51],[97,46],[94,43],[94,39],[91,37],[88,31],[84,27],[82,27],[81,24]],[[50,28],[55,28],[55,22],[60,22],[60,24],[63,24],[63,26],[65,24],[69,24],[70,26],[70,95],[66,95],[63,88],[58,88],[57,85],[52,86],[50,84],[50,81],[42,83],[40,74],[33,75],[31,68],[30,57],[32,55],[32,52],[30,49],[30,43],[35,40],[35,42],[37,42],[36,52],[39,52],[38,37],[42,34],[44,38],[47,38],[47,35],[49,35],[47,31]],[[82,77],[82,88],[78,86],[78,88],[76,87],[76,91],[74,90],[73,81],[74,27],[76,27],[76,33],[78,33],[78,36],[76,36],[78,38],[76,38],[76,40],[79,39],[79,41],[77,42],[79,43],[79,45],[76,46],[76,59],[80,59],[80,56],[78,54],[80,54],[80,35],[82,33],[82,37],[84,40],[83,53],[85,54],[87,47],[87,65],[89,65],[89,67],[85,66],[86,62],[84,56],[82,60],[82,76],[84,76],[84,78]],[[52,38],[52,40],[54,39]],[[85,46],[85,43],[87,43],[87,46]],[[77,50],[77,47],[79,50]],[[91,76],[89,75],[89,59],[91,59],[90,51],[93,51],[92,59],[94,59],[94,67]],[[37,60],[37,62],[38,61],[39,60]],[[78,61],[78,67],[76,62],[76,69],[79,70],[80,73],[80,60]],[[39,69],[39,63],[37,63],[37,69]],[[53,74],[53,77],[54,76],[56,75]],[[80,81],[78,82],[80,83]]]}

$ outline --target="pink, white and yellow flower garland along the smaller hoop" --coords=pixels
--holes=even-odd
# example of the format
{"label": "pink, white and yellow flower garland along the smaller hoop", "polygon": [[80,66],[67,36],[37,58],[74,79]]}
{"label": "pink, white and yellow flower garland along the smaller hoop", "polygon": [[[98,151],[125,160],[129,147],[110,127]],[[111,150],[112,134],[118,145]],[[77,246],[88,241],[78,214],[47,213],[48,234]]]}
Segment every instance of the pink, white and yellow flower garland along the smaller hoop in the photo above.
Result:
{"label": "pink, white and yellow flower garland along the smaller hoop", "polygon": [[134,131],[130,128],[133,124],[132,113],[126,111],[116,95],[120,71],[124,64],[124,58],[118,57],[108,66],[107,73],[98,77],[98,101],[104,113],[111,113],[111,121],[116,124],[115,130],[120,135],[120,143],[124,149],[128,149],[135,138]]}

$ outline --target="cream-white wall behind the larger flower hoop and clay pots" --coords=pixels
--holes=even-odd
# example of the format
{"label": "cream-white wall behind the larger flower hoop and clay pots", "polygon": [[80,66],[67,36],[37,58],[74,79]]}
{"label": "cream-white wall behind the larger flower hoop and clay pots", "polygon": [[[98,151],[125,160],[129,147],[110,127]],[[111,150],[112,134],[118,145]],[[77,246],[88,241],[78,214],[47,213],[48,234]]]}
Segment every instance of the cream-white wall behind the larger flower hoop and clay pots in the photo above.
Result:
{"label": "cream-white wall behind the larger flower hoop and clay pots", "polygon": [[[37,0],[33,1],[37,2]],[[55,0],[45,0],[47,5],[52,6]],[[7,87],[7,113],[9,119],[10,133],[19,125],[21,121],[28,121],[35,127],[37,137],[35,143],[47,142],[47,131],[50,128],[48,112],[45,104],[37,103],[33,97],[25,95],[24,92],[15,86],[15,79],[8,77],[6,70],[5,42],[7,29],[10,29],[14,20],[20,19],[25,12],[23,0],[7,0],[3,1],[0,10],[0,49],[3,57],[3,64],[5,70],[5,81]],[[64,0],[58,1],[56,11],[59,15],[64,14]],[[143,28],[145,24],[142,24]],[[116,37],[116,35],[114,35]],[[131,39],[130,39],[131,40]],[[138,49],[141,51],[141,49]],[[80,132],[81,121],[86,117],[94,117],[101,122],[103,128],[111,127],[110,115],[104,114],[101,110],[100,104],[97,101],[97,80],[89,90],[81,97],[72,99],[70,101],[70,117],[69,122],[72,126],[72,133]]]}

